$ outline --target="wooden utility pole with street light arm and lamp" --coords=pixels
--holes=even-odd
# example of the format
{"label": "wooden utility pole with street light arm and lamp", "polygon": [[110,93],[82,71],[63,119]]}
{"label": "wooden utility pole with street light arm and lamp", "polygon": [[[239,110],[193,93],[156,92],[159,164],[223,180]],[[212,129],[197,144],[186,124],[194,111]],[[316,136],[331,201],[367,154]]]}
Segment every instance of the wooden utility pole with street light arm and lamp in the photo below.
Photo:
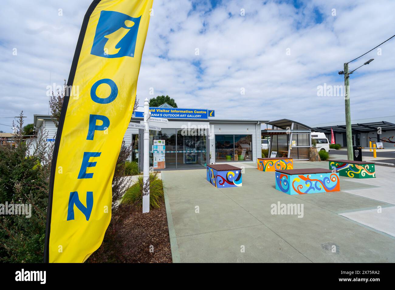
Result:
{"label": "wooden utility pole with street light arm and lamp", "polygon": [[[371,58],[363,65],[370,64],[374,58]],[[361,66],[363,66],[361,65]],[[361,67],[360,66],[360,67]],[[348,62],[344,63],[344,71],[339,71],[339,75],[344,75],[344,105],[346,107],[346,139],[347,139],[347,159],[353,161],[354,155],[352,154],[352,131],[351,131],[351,113],[350,113],[350,75],[359,69],[357,67],[353,71],[348,72]]]}

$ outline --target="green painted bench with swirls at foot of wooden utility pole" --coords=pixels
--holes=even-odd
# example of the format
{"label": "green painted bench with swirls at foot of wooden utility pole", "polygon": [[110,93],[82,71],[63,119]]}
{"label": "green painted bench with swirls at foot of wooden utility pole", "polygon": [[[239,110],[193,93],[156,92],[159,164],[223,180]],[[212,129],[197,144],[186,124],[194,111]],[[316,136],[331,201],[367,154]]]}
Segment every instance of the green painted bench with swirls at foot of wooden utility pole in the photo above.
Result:
{"label": "green painted bench with swirls at foot of wooden utility pole", "polygon": [[350,160],[328,160],[329,169],[336,168],[340,176],[352,178],[375,178],[376,169],[374,163],[369,161],[350,161]]}

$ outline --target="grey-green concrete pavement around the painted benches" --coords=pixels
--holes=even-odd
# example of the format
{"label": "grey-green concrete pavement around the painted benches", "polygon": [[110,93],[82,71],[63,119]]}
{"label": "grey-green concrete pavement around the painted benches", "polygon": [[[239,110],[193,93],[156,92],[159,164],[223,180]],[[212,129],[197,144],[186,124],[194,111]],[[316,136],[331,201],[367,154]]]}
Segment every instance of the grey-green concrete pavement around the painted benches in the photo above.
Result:
{"label": "grey-green concrete pavement around the painted benches", "polygon": [[[273,172],[244,164],[243,186],[226,189],[206,181],[204,168],[162,171],[173,262],[395,262],[394,168],[340,176],[340,192],[290,196],[275,189]],[[303,217],[272,214],[279,202],[303,205]]]}

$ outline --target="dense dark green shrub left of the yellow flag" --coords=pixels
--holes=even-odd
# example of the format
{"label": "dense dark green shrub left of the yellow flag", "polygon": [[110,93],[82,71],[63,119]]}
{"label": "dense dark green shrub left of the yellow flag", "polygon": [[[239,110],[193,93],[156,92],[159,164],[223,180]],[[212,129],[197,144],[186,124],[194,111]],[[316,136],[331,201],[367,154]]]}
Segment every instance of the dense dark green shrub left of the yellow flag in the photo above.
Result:
{"label": "dense dark green shrub left of the yellow flag", "polygon": [[23,143],[0,145],[0,203],[31,205],[30,218],[0,215],[0,262],[43,261],[49,167],[26,157],[27,150]]}

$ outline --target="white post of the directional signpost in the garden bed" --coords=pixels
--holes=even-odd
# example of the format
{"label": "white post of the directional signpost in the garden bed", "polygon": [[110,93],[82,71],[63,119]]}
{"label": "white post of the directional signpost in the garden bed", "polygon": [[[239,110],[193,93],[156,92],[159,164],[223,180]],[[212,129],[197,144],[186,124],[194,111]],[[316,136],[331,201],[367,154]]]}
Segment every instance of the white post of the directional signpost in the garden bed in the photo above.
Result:
{"label": "white post of the directional signpost in the garden bed", "polygon": [[144,100],[143,213],[149,212],[149,103]]}

